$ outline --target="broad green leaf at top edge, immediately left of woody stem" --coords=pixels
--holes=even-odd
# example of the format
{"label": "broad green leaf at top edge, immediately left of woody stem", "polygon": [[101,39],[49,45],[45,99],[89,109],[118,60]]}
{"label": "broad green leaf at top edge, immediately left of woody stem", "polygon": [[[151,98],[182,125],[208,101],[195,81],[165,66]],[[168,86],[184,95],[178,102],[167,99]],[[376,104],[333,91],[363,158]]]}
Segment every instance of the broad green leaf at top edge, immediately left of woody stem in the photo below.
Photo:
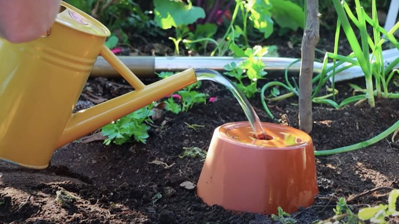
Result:
{"label": "broad green leaf at top edge, immediately left of woody stem", "polygon": [[270,10],[272,18],[281,28],[296,31],[304,29],[304,13],[300,6],[288,0],[270,0],[273,8]]}

